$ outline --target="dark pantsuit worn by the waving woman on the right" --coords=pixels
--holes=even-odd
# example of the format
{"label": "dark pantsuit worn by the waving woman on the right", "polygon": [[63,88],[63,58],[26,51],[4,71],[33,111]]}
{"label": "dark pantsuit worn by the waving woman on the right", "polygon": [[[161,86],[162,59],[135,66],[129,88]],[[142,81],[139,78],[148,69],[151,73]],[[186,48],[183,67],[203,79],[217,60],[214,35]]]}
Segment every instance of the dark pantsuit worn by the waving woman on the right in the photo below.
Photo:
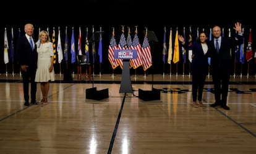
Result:
{"label": "dark pantsuit worn by the waving woman on the right", "polygon": [[[202,44],[200,43],[200,40],[194,41],[194,43],[190,47],[187,45],[184,47],[185,49],[191,49],[194,55],[191,63],[193,102],[196,102],[197,99],[201,101],[202,94],[203,94],[203,86],[205,85],[205,78],[208,73],[209,50],[207,51],[206,54],[203,53],[203,48],[202,48]],[[198,98],[197,98],[197,90],[198,90]]]}

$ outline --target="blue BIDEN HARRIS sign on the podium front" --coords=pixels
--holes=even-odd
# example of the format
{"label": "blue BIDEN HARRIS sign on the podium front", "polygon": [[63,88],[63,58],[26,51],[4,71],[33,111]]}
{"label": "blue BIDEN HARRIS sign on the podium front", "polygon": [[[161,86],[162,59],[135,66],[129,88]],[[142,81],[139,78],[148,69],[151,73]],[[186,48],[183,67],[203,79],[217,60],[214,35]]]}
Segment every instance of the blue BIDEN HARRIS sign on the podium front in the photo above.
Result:
{"label": "blue BIDEN HARRIS sign on the podium front", "polygon": [[137,59],[137,50],[115,49],[114,59]]}

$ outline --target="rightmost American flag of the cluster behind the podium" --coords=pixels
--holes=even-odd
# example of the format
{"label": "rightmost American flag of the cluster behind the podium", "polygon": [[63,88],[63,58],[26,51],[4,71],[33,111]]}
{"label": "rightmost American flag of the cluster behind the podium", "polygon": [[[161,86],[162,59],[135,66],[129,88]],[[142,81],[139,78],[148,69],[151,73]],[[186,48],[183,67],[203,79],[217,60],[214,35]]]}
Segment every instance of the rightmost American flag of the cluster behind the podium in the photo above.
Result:
{"label": "rightmost American flag of the cluster behind the podium", "polygon": [[142,64],[143,64],[142,66],[143,66],[144,71],[146,71],[152,65],[151,48],[150,48],[150,45],[148,43],[147,32],[145,34],[143,44],[142,44]]}

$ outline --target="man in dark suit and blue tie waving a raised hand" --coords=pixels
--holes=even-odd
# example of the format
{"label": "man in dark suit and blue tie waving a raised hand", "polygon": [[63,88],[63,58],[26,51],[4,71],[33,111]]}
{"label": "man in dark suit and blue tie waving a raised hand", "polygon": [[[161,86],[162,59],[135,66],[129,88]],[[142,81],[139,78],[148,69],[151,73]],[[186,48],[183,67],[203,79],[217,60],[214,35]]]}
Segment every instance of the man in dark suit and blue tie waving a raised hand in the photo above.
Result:
{"label": "man in dark suit and blue tie waving a raised hand", "polygon": [[231,58],[231,48],[243,43],[243,34],[241,23],[235,23],[234,30],[238,35],[236,38],[221,37],[220,26],[213,26],[213,38],[210,42],[211,73],[215,89],[215,103],[211,107],[221,106],[229,110],[227,103],[229,76],[233,67]]}

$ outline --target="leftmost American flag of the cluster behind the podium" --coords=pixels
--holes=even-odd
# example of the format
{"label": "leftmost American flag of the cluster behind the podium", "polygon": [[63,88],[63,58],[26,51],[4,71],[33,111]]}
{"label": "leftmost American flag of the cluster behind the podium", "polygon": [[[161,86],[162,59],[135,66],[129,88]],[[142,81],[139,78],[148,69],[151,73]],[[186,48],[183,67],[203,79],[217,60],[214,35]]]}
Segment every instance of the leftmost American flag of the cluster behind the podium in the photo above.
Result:
{"label": "leftmost American flag of the cluster behind the podium", "polygon": [[118,49],[118,46],[116,44],[116,38],[114,38],[114,31],[112,33],[110,44],[108,47],[108,60],[111,63],[111,66],[113,69],[118,67],[119,63],[117,62],[117,59],[114,59],[114,50]]}

